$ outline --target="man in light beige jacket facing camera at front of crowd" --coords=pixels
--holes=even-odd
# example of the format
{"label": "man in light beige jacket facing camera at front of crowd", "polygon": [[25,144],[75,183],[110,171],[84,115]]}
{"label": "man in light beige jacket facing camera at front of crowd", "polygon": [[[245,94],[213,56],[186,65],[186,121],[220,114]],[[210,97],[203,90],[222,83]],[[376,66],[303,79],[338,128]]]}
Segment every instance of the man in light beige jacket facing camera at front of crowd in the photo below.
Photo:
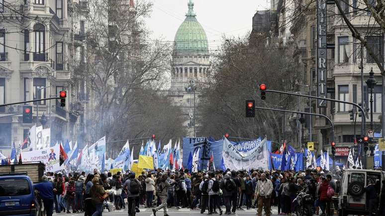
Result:
{"label": "man in light beige jacket facing camera at front of crowd", "polygon": [[255,196],[258,200],[258,216],[262,216],[262,209],[265,208],[266,216],[270,216],[270,197],[273,192],[273,183],[266,179],[266,174],[261,174],[261,180],[257,182],[255,187]]}

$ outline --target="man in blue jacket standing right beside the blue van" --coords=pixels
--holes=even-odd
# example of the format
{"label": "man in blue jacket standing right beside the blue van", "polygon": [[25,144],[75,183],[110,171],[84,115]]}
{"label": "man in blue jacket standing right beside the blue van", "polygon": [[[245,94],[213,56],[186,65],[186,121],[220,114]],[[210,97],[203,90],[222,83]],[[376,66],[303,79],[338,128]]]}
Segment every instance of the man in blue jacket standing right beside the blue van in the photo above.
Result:
{"label": "man in blue jacket standing right beside the blue van", "polygon": [[40,198],[43,200],[44,208],[47,216],[53,213],[53,184],[48,181],[47,176],[42,177],[43,182],[33,185],[33,188],[39,192]]}

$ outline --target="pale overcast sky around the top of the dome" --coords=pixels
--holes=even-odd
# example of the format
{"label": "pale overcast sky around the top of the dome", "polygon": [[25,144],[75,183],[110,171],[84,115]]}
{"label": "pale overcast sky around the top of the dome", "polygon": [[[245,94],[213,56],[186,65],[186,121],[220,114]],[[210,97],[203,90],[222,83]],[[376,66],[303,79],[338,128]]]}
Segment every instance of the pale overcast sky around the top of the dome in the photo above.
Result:
{"label": "pale overcast sky around the top of the dome", "polygon": [[[147,27],[152,38],[174,41],[178,27],[185,20],[188,0],[152,0],[154,3]],[[221,43],[221,36],[243,36],[251,31],[256,10],[264,10],[267,0],[194,0],[194,11],[206,31],[210,49]]]}

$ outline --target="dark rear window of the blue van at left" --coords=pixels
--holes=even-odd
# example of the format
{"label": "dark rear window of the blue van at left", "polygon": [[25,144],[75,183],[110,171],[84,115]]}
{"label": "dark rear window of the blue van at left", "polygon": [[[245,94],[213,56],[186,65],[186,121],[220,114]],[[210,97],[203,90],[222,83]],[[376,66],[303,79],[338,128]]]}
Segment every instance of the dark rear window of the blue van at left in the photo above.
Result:
{"label": "dark rear window of the blue van at left", "polygon": [[2,179],[0,180],[0,197],[21,196],[31,193],[26,179]]}

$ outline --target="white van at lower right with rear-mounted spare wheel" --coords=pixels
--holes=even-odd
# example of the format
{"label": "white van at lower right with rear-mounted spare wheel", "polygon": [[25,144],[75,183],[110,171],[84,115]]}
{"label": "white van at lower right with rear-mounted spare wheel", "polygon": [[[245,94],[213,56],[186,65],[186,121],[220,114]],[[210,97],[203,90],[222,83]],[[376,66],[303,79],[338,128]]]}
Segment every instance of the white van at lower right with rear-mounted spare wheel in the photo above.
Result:
{"label": "white van at lower right with rear-mounted spare wheel", "polygon": [[369,215],[365,188],[369,182],[380,181],[383,187],[384,172],[372,169],[348,169],[343,172],[338,196],[338,215]]}

